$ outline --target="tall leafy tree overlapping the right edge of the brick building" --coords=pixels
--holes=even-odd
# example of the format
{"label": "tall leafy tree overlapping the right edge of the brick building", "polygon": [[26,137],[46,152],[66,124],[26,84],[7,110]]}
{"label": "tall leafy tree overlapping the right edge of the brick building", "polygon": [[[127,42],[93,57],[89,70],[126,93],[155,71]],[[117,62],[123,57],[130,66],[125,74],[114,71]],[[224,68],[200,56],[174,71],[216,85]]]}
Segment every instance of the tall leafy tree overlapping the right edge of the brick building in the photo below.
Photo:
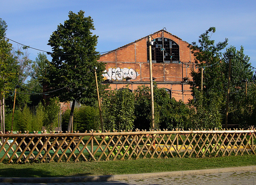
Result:
{"label": "tall leafy tree overlapping the right edge of the brick building", "polygon": [[[194,99],[190,101],[192,110],[190,128],[221,128],[223,116],[221,109],[224,107],[224,84],[226,83],[225,74],[221,67],[222,53],[226,48],[228,39],[224,42],[215,44],[211,40],[216,28],[210,27],[205,33],[199,36],[197,44],[192,42],[189,46],[195,56],[195,63],[199,70],[193,71],[193,81],[191,83]],[[203,70],[203,90],[201,88],[201,75]],[[194,110],[194,111],[193,111]]]}

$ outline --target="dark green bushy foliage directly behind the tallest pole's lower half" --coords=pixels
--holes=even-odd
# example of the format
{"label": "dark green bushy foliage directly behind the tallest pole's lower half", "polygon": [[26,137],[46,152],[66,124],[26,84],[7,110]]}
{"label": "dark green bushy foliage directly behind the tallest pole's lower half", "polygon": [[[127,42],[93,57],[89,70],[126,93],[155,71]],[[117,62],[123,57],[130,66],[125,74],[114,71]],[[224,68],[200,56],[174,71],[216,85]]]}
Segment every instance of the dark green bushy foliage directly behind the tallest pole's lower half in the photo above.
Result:
{"label": "dark green bushy foliage directly behind the tallest pole's lower half", "polygon": [[[135,93],[135,128],[151,127],[151,95],[148,86],[138,86]],[[154,123],[156,129],[185,128],[189,121],[189,108],[184,102],[170,98],[164,88],[154,84]]]}

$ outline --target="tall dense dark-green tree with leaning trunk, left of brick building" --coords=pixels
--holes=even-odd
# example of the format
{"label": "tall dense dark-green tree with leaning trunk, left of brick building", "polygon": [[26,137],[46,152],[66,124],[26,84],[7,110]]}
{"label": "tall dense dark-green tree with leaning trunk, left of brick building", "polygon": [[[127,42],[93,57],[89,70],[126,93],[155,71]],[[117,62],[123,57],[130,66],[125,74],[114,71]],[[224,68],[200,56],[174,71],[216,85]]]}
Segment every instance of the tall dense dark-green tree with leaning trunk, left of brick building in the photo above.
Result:
{"label": "tall dense dark-green tree with leaning trunk, left of brick building", "polygon": [[[48,45],[52,47],[52,61],[48,67],[48,88],[60,101],[72,101],[68,131],[71,129],[75,101],[93,105],[96,101],[94,67],[98,82],[102,81],[103,63],[97,62],[97,36],[92,35],[93,20],[84,11],[69,12],[69,19],[52,33]],[[103,86],[99,84],[99,88]],[[60,90],[61,89],[61,90]]]}

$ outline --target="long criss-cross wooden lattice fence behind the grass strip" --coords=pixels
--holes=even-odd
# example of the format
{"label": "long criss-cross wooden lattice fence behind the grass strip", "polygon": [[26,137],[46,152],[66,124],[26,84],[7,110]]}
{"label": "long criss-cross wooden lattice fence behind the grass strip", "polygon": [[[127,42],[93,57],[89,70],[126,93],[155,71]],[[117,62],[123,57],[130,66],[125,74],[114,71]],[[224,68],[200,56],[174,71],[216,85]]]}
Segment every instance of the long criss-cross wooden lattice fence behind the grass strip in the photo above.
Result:
{"label": "long criss-cross wooden lattice fence behind the grass strip", "polygon": [[0,163],[256,154],[255,129],[2,133]]}

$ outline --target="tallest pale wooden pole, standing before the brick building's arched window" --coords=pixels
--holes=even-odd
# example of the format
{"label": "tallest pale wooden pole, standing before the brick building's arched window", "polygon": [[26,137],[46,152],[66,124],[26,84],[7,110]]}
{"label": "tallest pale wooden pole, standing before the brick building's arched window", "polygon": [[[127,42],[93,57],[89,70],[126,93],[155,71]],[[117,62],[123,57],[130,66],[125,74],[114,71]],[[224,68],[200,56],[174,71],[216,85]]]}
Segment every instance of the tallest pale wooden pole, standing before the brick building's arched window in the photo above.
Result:
{"label": "tallest pale wooden pole, standing before the brick building's arched window", "polygon": [[150,92],[151,92],[151,129],[155,129],[154,120],[154,87],[153,87],[153,75],[152,75],[152,51],[151,51],[151,36],[148,38],[149,49],[149,74],[150,74]]}

